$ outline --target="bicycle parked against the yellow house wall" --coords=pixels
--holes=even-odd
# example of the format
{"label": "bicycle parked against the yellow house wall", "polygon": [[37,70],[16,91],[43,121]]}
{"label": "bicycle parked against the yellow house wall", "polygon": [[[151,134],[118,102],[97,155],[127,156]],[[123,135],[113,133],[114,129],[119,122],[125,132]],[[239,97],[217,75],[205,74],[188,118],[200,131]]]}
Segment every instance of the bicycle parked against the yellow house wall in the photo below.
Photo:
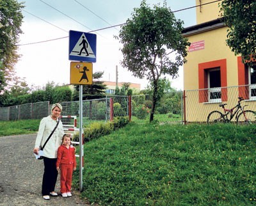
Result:
{"label": "bicycle parked against the yellow house wall", "polygon": [[[232,109],[226,109],[225,105],[220,104],[220,107],[223,108],[225,113],[221,113],[220,111],[212,111],[207,116],[207,123],[228,123],[231,122],[232,118],[236,115],[236,123],[255,123],[255,115],[256,113],[252,110],[244,110],[244,107],[248,105],[241,106],[241,101],[243,101],[243,97],[238,97],[238,104]],[[229,116],[229,118],[228,118]]]}

